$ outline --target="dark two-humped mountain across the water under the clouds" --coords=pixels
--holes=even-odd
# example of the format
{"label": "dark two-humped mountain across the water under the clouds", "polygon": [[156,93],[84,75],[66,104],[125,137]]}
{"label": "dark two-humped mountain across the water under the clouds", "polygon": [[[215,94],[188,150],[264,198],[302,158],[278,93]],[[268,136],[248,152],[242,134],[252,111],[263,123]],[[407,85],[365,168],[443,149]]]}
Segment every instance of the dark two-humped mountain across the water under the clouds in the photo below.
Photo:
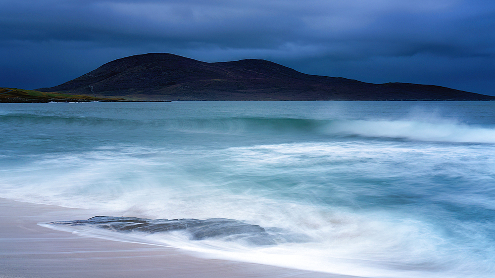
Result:
{"label": "dark two-humped mountain across the water under the clouds", "polygon": [[206,63],[168,53],[114,60],[37,91],[141,100],[495,100],[433,85],[308,75],[266,60]]}

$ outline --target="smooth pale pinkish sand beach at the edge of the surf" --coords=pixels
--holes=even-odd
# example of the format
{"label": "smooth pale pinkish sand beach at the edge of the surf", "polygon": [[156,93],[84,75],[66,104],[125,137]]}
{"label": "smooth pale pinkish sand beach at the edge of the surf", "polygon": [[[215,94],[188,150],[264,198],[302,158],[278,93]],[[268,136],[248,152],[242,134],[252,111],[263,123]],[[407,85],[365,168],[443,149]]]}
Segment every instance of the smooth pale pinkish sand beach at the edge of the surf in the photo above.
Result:
{"label": "smooth pale pinkish sand beach at the edge of the surf", "polygon": [[77,209],[0,198],[0,278],[349,277],[202,259],[173,248],[81,237],[37,225],[71,220],[66,218],[78,213],[82,215]]}

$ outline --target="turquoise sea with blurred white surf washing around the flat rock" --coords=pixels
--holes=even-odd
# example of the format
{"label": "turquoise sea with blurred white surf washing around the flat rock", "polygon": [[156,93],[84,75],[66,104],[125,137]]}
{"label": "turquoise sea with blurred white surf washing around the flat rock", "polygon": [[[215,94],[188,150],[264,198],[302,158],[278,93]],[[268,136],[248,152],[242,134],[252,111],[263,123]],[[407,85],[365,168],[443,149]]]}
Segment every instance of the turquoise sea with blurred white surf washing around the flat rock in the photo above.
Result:
{"label": "turquoise sea with blurred white surf washing around the flat rock", "polygon": [[206,258],[494,277],[495,101],[0,103],[0,197]]}

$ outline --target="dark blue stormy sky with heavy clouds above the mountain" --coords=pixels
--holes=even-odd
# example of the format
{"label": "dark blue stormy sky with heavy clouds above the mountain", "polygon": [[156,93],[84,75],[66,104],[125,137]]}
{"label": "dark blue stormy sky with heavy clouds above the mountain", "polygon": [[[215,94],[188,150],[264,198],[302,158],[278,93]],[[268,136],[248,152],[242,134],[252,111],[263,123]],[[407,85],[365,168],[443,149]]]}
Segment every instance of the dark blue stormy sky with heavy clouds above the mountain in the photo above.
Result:
{"label": "dark blue stormy sky with heavy clouds above the mountain", "polygon": [[150,52],[495,95],[495,1],[0,0],[0,87]]}

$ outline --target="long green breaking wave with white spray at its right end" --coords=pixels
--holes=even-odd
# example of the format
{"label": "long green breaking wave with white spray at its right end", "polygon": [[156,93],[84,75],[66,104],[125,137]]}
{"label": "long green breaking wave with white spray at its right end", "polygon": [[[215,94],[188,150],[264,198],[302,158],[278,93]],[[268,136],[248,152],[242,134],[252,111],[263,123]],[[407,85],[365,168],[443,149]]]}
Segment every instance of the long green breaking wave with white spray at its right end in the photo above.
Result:
{"label": "long green breaking wave with white spray at its right end", "polygon": [[302,118],[212,118],[135,121],[98,117],[65,117],[53,115],[6,114],[0,121],[12,125],[64,125],[73,127],[106,127],[116,131],[154,130],[154,132],[205,134],[307,134],[327,137],[385,138],[417,141],[495,143],[495,127],[469,125],[453,120],[422,121]]}

